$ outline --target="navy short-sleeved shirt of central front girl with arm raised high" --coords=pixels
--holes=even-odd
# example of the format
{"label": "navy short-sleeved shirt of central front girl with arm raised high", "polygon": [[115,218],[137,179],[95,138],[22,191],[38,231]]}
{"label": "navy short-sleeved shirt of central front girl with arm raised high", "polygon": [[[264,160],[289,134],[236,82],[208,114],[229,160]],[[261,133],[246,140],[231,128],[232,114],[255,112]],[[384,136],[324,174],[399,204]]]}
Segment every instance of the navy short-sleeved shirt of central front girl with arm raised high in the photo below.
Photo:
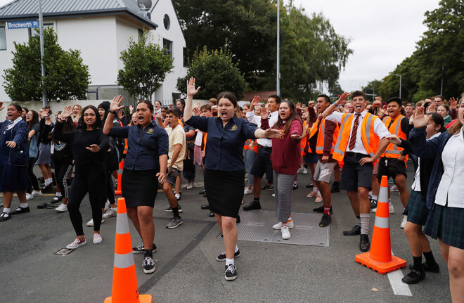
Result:
{"label": "navy short-sleeved shirt of central front girl with arm raised high", "polygon": [[206,162],[207,169],[236,171],[245,169],[243,146],[247,139],[254,139],[257,127],[236,115],[223,126],[219,117],[192,116],[186,124],[207,132]]}

